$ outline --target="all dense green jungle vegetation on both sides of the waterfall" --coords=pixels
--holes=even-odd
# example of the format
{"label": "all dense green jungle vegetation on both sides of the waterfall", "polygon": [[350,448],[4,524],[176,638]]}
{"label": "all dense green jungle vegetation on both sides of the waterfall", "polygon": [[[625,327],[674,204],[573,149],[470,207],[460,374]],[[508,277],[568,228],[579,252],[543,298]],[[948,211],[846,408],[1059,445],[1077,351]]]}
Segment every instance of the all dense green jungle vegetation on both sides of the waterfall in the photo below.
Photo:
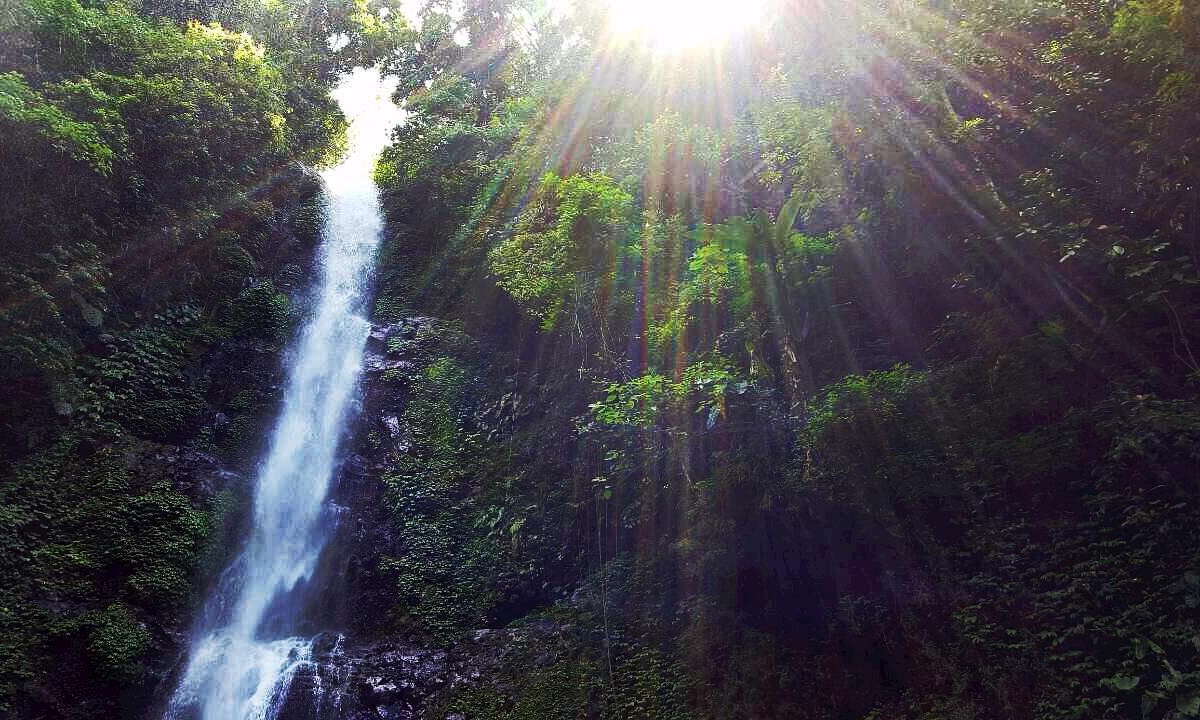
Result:
{"label": "all dense green jungle vegetation on both sides of the waterfall", "polygon": [[428,716],[1200,716],[1200,4],[607,7],[0,7],[0,713],[162,691],[380,64],[354,630],[576,638]]}

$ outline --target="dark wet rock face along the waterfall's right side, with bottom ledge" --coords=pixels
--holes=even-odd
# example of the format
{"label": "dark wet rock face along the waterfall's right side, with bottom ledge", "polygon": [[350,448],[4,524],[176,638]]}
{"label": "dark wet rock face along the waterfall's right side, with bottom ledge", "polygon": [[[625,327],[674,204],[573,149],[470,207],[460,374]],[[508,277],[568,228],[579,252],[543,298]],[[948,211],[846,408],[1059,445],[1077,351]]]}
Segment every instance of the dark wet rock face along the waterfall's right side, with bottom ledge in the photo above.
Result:
{"label": "dark wet rock face along the waterfall's right side, with bottom ledge", "polygon": [[[480,629],[439,646],[400,638],[385,625],[395,611],[395,586],[380,562],[406,538],[384,503],[383,475],[414,444],[402,418],[416,374],[444,348],[438,320],[404,318],[372,329],[364,358],[361,406],[346,439],[331,503],[340,517],[313,592],[317,629],[338,628],[313,646],[312,662],[298,672],[281,700],[278,720],[418,720],[455,716],[448,700],[486,686],[499,696],[511,688],[512,667],[565,656],[572,630],[552,620],[520,628]],[[577,644],[577,643],[576,643]],[[449,713],[449,715],[448,715]],[[461,718],[461,715],[460,715]]]}

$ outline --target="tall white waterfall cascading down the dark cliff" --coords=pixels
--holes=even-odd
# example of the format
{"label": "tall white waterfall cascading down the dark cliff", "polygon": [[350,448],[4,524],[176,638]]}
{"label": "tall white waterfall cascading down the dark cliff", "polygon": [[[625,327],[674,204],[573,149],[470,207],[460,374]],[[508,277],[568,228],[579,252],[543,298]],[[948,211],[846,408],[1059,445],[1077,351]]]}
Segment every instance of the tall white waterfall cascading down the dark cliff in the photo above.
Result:
{"label": "tall white waterfall cascading down the dark cliff", "polygon": [[402,116],[394,89],[360,68],[334,90],[350,121],[349,151],[323,173],[328,215],[313,313],[258,474],[251,535],[210,599],[167,720],[271,720],[310,660],[312,638],[296,628],[305,598],[295,590],[331,530],[326,497],[370,329],[360,313],[383,224],[372,168]]}

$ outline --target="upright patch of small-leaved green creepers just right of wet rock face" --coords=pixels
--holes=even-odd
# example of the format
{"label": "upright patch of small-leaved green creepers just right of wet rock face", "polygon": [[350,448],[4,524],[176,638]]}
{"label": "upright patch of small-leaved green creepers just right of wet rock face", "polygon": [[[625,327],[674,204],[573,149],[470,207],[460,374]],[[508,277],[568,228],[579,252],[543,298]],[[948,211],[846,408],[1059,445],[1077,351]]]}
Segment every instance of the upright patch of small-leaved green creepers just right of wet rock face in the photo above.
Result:
{"label": "upright patch of small-leaved green creepers just right of wet rock face", "polygon": [[520,523],[500,494],[504,451],[474,420],[482,389],[462,360],[426,366],[401,418],[413,448],[383,476],[403,540],[402,554],[382,566],[397,590],[392,620],[443,640],[485,623],[521,572],[512,558]]}

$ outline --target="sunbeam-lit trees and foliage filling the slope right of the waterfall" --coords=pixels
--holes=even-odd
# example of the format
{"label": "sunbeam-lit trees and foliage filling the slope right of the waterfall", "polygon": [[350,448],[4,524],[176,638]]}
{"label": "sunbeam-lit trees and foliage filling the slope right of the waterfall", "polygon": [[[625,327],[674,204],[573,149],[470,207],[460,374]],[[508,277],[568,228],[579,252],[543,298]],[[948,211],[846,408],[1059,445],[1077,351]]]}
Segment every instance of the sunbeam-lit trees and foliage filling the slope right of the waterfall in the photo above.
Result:
{"label": "sunbeam-lit trees and foliage filling the slope right of the waterfall", "polygon": [[1195,8],[768,6],[664,55],[517,2],[413,106],[380,293],[544,409],[473,492],[686,716],[1195,715]]}

